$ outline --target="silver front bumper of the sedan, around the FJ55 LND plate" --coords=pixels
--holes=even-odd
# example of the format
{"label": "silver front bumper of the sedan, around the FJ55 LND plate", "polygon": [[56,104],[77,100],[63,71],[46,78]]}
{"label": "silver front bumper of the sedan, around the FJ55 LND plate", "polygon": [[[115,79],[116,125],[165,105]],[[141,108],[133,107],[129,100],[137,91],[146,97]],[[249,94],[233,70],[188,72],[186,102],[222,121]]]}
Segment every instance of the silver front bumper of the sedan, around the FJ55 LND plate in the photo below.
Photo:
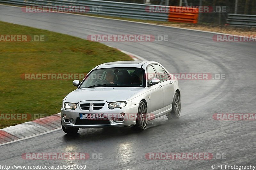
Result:
{"label": "silver front bumper of the sedan, around the FJ55 LND plate", "polygon": [[[84,110],[80,107],[80,104],[88,104],[88,110]],[[91,104],[92,103],[92,104]],[[136,124],[136,117],[138,112],[138,104],[132,105],[131,101],[126,101],[126,106],[120,108],[109,109],[108,103],[106,101],[82,101],[77,104],[75,110],[61,108],[61,122],[62,125],[66,128],[104,128],[104,127],[122,127],[122,126],[131,126]],[[90,105],[91,104],[91,105]],[[94,104],[104,104],[101,109],[94,110]],[[97,108],[97,107],[95,107]],[[80,113],[103,113],[104,119],[80,119]],[[120,113],[125,113],[125,116],[120,116]],[[63,117],[63,114],[66,117]],[[117,118],[117,122],[111,123],[110,120],[112,117]],[[70,118],[74,119],[74,122],[69,122]]]}

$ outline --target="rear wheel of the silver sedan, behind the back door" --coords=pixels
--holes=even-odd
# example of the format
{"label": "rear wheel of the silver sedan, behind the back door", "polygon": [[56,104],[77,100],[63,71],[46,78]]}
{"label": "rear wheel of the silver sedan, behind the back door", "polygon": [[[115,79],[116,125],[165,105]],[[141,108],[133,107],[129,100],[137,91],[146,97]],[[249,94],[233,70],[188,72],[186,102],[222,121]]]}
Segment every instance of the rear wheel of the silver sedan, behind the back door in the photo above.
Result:
{"label": "rear wheel of the silver sedan, behind the back door", "polygon": [[180,117],[180,110],[181,110],[180,94],[178,92],[175,92],[174,98],[172,101],[172,111],[171,113],[168,113],[166,117],[168,119],[177,119]]}

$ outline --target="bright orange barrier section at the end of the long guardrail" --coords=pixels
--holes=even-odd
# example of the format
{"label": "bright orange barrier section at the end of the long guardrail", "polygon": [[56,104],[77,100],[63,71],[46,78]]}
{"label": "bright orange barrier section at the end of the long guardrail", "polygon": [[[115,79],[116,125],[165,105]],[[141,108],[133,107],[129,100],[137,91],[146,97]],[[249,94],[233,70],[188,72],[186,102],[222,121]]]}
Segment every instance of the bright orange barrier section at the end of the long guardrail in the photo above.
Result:
{"label": "bright orange barrier section at the end of the long guardrail", "polygon": [[168,21],[185,22],[196,24],[198,19],[198,9],[184,6],[170,6]]}

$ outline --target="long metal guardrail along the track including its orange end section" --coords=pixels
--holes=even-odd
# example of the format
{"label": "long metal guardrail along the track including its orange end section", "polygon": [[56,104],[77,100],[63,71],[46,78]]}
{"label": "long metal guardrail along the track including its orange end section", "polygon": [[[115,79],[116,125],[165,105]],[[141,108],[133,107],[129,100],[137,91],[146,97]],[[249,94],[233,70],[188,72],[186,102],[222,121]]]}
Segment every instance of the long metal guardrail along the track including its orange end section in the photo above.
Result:
{"label": "long metal guardrail along the track including its orange end section", "polygon": [[[194,14],[181,12],[150,12],[149,7],[156,5],[122,3],[101,0],[0,0],[0,3],[15,4],[20,6],[87,6],[90,9],[101,6],[101,11],[87,11],[89,14],[106,15],[114,17],[134,18],[143,20],[172,21],[197,23]],[[169,6],[157,5],[159,8]],[[196,18],[197,20],[197,18]]]}

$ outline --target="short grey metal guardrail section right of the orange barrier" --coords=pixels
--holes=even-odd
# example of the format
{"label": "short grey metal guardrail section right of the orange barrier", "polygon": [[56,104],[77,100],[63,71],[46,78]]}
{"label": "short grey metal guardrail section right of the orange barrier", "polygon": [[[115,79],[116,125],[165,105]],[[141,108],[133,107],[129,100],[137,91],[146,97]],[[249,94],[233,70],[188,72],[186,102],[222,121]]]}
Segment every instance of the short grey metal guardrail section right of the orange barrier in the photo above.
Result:
{"label": "short grey metal guardrail section right of the orange barrier", "polygon": [[227,24],[256,27],[256,15],[228,14]]}

